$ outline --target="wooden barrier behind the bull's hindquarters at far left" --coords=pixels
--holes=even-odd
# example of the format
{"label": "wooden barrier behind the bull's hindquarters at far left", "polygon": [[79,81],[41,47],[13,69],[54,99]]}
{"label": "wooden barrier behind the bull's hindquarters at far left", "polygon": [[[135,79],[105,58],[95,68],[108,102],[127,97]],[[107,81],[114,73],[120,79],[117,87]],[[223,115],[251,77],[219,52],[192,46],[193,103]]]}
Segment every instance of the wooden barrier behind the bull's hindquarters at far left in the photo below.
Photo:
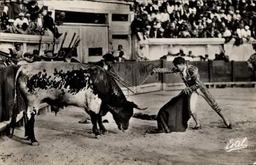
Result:
{"label": "wooden barrier behind the bull's hindquarters at far left", "polygon": [[[23,125],[23,111],[25,110],[25,103],[20,92],[17,91],[17,109],[12,111],[14,102],[14,79],[18,66],[11,65],[0,68],[0,132],[10,124],[11,117],[17,116],[17,126]],[[40,105],[38,114],[46,114],[51,111],[48,104]]]}

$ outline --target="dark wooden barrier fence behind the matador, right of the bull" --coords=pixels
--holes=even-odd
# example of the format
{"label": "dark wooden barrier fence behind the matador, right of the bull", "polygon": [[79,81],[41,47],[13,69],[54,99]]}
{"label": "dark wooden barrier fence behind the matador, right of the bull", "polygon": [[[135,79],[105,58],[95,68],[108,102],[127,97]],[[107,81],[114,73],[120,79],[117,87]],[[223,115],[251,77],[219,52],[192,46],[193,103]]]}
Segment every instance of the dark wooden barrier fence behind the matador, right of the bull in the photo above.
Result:
{"label": "dark wooden barrier fence behind the matador, right of the bull", "polygon": [[[206,85],[256,83],[255,73],[247,67],[246,61],[191,61],[188,64],[198,67],[201,80]],[[154,67],[174,67],[174,65],[172,61],[166,60],[117,62],[115,72],[134,85],[136,93],[184,88],[184,83],[176,74],[152,75],[140,85]],[[126,91],[125,88],[122,89]],[[127,91],[126,95],[130,93]]]}

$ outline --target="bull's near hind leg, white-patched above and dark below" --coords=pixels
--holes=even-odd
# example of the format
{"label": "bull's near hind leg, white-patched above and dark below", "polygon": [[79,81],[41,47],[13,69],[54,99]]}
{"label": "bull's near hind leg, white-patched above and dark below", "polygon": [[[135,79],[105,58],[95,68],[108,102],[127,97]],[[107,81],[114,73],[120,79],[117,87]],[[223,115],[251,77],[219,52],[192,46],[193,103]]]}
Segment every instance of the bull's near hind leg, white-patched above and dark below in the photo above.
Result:
{"label": "bull's near hind leg, white-patched above and dark below", "polygon": [[35,138],[34,125],[35,116],[38,112],[38,106],[28,106],[26,111],[26,123],[25,123],[25,134],[28,135],[28,140],[31,140],[33,146],[37,146],[38,142]]}

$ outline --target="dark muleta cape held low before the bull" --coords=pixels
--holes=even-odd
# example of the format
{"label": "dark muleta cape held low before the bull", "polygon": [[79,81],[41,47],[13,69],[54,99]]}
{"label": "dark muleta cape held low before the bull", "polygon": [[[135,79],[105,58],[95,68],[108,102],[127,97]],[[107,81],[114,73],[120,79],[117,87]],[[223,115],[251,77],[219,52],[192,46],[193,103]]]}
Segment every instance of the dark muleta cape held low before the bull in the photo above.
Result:
{"label": "dark muleta cape held low before the bull", "polygon": [[135,113],[133,117],[142,120],[156,120],[157,130],[148,133],[169,133],[169,132],[185,132],[187,122],[190,119],[190,95],[184,92],[172,98],[158,112],[157,115],[147,115]]}

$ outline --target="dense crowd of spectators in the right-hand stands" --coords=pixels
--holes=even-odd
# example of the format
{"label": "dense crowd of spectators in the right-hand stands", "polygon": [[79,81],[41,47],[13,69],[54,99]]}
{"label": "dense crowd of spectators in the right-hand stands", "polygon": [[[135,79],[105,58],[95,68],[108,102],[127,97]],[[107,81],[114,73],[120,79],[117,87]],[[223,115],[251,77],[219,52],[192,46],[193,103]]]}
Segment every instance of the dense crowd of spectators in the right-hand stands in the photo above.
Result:
{"label": "dense crowd of spectators in the right-hand stands", "polygon": [[[140,1],[141,2],[141,1]],[[146,38],[256,39],[256,1],[134,1],[131,29]]]}

